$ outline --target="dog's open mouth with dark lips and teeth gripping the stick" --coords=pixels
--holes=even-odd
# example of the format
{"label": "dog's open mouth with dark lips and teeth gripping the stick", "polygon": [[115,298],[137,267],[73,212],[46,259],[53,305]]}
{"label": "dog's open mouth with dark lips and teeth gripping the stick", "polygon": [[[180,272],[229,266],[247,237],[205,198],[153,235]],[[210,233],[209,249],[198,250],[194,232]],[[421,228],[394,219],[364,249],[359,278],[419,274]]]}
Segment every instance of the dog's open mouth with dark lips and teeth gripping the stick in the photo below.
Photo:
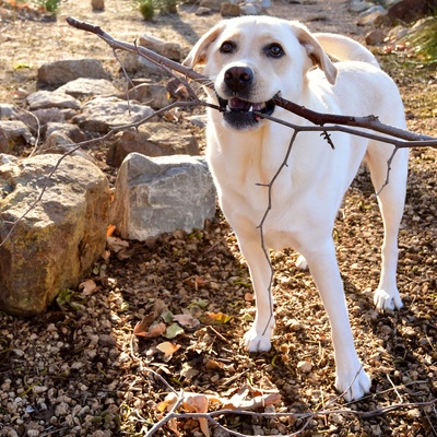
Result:
{"label": "dog's open mouth with dark lips and teeth gripping the stick", "polygon": [[262,118],[260,115],[271,116],[275,105],[273,99],[268,102],[255,103],[239,97],[222,98],[217,95],[218,105],[223,111],[223,117],[233,128],[244,130],[253,128]]}

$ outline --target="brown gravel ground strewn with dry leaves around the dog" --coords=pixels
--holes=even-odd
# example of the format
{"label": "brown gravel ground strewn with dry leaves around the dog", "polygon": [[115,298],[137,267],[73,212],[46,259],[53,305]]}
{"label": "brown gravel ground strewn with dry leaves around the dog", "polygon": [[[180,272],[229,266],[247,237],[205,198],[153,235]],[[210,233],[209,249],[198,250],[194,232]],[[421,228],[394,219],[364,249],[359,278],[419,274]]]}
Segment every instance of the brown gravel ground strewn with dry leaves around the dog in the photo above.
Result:
{"label": "brown gravel ground strewn with dry leaves around the dog", "polygon": [[[131,40],[144,32],[128,1],[108,1],[103,14],[74,3],[83,2],[62,3],[55,23],[1,23],[3,102],[20,105],[17,87],[32,91],[36,67],[48,59],[93,56],[115,71],[110,50],[97,38],[66,27],[67,15],[99,24],[119,39]],[[272,11],[290,16],[291,8],[276,1]],[[311,29],[356,37],[364,32],[354,25],[343,1],[294,8],[295,17],[318,17],[309,23]],[[147,31],[167,39],[177,34],[188,49],[217,19],[196,17],[186,9],[177,17],[158,17]],[[409,128],[437,135],[435,66],[383,52],[383,68],[404,97]],[[14,69],[19,62],[28,67]],[[98,156],[102,151],[94,152]],[[251,412],[284,413],[216,417],[222,426],[244,435],[437,435],[436,164],[436,150],[417,147],[411,153],[400,234],[400,311],[378,314],[373,305],[382,224],[365,170],[351,187],[335,224],[356,345],[373,377],[371,393],[365,399],[345,404],[335,393],[328,317],[310,275],[295,269],[292,251],[272,253],[272,351],[244,351],[241,338],[253,317],[251,286],[235,237],[217,211],[205,229],[189,235],[176,232],[121,249],[111,244],[110,257],[84,277],[95,287],[88,282],[90,288],[62,293],[40,317],[0,314],[0,435],[146,435],[165,417],[165,408],[172,408],[163,403],[166,395],[180,397],[181,390],[202,397],[187,397],[178,412],[203,411],[197,402],[208,394],[210,411],[232,398],[229,408],[241,410],[246,401]],[[172,321],[172,315],[190,317]],[[213,401],[217,397],[222,403]],[[253,406],[257,397],[264,406]],[[326,410],[331,413],[321,413]],[[318,414],[306,418],[302,413]],[[156,435],[202,436],[200,425],[180,418],[161,426]],[[211,434],[228,435],[214,426]]]}

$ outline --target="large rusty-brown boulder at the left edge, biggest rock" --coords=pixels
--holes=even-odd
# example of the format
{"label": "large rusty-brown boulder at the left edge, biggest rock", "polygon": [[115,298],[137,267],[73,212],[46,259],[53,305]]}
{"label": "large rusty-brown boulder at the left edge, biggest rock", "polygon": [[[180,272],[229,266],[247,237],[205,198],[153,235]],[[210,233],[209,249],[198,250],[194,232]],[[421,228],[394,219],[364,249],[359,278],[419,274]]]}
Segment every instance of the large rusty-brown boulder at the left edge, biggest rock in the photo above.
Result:
{"label": "large rusty-brown boulder at the left edge, biggest rock", "polygon": [[[0,237],[38,198],[59,155],[39,155],[0,167]],[[34,316],[62,288],[74,288],[103,253],[108,181],[92,163],[66,156],[42,200],[0,247],[0,308]]]}

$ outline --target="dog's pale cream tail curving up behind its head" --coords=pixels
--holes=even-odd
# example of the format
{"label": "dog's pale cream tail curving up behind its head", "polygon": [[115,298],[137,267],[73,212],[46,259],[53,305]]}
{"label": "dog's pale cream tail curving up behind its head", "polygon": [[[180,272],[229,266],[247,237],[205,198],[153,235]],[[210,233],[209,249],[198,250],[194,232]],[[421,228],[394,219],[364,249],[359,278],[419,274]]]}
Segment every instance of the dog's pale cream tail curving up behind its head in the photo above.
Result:
{"label": "dog's pale cream tail curving up behind its head", "polygon": [[347,36],[328,33],[316,33],[314,36],[327,54],[341,61],[362,61],[380,68],[370,50]]}

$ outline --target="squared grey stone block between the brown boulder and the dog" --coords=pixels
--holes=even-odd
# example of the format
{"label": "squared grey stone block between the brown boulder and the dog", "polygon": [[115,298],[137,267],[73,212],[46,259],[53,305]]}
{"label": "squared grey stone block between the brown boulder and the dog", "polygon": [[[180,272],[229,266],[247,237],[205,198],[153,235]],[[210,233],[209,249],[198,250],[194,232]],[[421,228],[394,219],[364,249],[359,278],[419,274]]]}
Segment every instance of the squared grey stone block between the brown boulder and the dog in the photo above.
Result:
{"label": "squared grey stone block between the brown boulder and the dog", "polygon": [[191,232],[214,214],[215,189],[202,157],[132,153],[121,164],[109,221],[122,238]]}

